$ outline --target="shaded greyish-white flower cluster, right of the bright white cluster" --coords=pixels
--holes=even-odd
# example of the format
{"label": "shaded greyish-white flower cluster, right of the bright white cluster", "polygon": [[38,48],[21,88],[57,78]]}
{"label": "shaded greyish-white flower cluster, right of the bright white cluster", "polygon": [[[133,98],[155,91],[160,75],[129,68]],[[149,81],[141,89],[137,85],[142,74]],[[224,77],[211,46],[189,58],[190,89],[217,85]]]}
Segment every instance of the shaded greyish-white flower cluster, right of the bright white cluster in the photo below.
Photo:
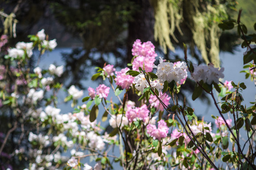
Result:
{"label": "shaded greyish-white flower cluster, right of the bright white cluster", "polygon": [[224,74],[222,73],[224,68],[214,68],[213,64],[199,65],[194,66],[194,72],[191,74],[192,78],[196,82],[200,82],[203,80],[204,83],[208,83],[209,85],[214,83],[219,83],[219,78],[224,78]]}

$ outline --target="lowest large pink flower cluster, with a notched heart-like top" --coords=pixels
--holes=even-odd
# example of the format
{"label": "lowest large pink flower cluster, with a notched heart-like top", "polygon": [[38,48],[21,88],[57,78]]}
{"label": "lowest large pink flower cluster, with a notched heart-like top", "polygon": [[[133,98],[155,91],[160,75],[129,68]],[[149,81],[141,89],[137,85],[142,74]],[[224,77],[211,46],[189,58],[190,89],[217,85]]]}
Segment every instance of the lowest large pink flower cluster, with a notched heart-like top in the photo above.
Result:
{"label": "lowest large pink flower cluster, with a notched heart-like top", "polygon": [[152,124],[149,124],[147,126],[147,133],[153,138],[157,138],[158,140],[167,137],[168,131],[169,127],[167,127],[167,124],[163,119],[158,122],[158,128],[156,128],[156,126]]}

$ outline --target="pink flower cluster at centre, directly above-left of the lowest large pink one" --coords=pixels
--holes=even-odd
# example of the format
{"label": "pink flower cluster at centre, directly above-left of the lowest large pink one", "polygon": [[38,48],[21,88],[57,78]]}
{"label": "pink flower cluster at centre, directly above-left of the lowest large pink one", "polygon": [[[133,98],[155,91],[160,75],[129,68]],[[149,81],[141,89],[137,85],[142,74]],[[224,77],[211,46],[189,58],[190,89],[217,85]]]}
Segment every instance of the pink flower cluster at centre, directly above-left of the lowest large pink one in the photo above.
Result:
{"label": "pink flower cluster at centre, directly above-left of the lowest large pink one", "polygon": [[136,118],[141,120],[145,120],[149,116],[149,110],[146,104],[143,104],[141,107],[135,107],[134,109],[128,105],[125,116],[128,118],[130,122],[135,121]]}

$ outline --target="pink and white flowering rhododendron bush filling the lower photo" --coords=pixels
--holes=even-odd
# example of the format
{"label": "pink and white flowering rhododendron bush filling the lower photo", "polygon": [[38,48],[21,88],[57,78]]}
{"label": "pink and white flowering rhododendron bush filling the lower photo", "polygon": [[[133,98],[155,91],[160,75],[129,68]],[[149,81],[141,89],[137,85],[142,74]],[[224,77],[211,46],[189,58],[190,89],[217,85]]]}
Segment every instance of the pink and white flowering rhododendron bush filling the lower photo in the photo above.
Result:
{"label": "pink and white flowering rhododendron bush filling the lower photo", "polygon": [[[224,68],[212,63],[192,64],[186,45],[184,60],[171,62],[157,55],[152,42],[136,40],[131,68],[97,67],[92,80],[103,84],[85,92],[57,81],[63,66],[32,69],[33,52],[41,56],[57,42],[47,40],[44,30],[29,37],[31,42],[5,50],[1,38],[0,116],[6,121],[0,125],[0,169],[256,169],[256,105],[243,105],[246,85],[227,81]],[[256,60],[253,46],[247,55]],[[247,68],[246,77],[255,81],[254,64]],[[178,100],[187,79],[194,81],[193,100],[202,93],[212,99],[218,111],[211,122],[199,119],[200,108],[189,107],[186,98]],[[60,91],[73,112],[58,108]],[[129,92],[139,100],[130,101]]]}

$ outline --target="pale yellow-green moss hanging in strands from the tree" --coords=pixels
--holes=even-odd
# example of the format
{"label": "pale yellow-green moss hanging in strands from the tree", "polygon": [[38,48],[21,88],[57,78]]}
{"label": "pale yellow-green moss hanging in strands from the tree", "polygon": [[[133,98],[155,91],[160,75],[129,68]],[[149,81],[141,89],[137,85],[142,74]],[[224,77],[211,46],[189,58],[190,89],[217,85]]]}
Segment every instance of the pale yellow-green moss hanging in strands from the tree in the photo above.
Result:
{"label": "pale yellow-green moss hanging in strands from the tree", "polygon": [[151,0],[151,3],[156,20],[155,40],[160,43],[165,53],[167,48],[174,51],[173,42],[179,42],[174,32],[177,30],[182,36],[183,29],[180,25],[183,23],[192,33],[191,47],[193,43],[197,46],[207,64],[212,62],[216,67],[220,66],[218,23],[228,18],[224,6],[227,2],[222,1],[221,4],[219,0]]}

